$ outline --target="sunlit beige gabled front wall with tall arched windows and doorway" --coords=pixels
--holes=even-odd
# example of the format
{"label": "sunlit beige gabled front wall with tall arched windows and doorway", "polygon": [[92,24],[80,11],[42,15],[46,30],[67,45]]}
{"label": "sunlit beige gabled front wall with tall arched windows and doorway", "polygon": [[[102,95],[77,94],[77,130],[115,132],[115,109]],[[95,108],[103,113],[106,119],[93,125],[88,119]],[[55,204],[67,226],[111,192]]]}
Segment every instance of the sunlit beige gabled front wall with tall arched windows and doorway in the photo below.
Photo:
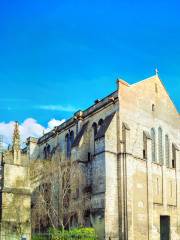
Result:
{"label": "sunlit beige gabled front wall with tall arched windows and doorway", "polygon": [[[127,206],[124,203],[123,209],[128,239],[160,239],[160,216],[170,216],[171,239],[180,239],[179,151],[176,168],[172,168],[172,162],[166,166],[165,159],[165,135],[170,139],[170,161],[172,143],[180,142],[179,114],[158,76],[133,85],[123,81],[118,84],[120,125],[126,123],[130,128],[124,153],[127,178],[123,183],[127,185]],[[159,127],[163,131],[163,164],[158,155]],[[151,128],[156,132],[156,163],[152,163],[151,140],[147,140],[147,159],[143,158],[143,132],[150,134]],[[121,232],[124,236],[123,229]]]}

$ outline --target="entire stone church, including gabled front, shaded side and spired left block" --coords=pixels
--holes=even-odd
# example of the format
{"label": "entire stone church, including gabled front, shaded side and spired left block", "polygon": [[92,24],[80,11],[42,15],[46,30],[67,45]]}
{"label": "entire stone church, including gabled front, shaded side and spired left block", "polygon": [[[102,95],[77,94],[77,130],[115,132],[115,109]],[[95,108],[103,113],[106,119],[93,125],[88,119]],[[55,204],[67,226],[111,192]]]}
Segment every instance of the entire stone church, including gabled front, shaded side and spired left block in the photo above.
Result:
{"label": "entire stone church, including gabled front, shaded side and spired left block", "polygon": [[1,168],[1,232],[6,222],[13,223],[8,204],[19,194],[28,236],[30,192],[33,208],[41,182],[32,177],[25,181],[28,165],[53,162],[58,153],[60,164],[76,163],[83,170],[83,184],[69,191],[71,201],[88,193],[84,215],[78,215],[82,205],[76,207],[70,227],[81,224],[83,217],[99,239],[180,240],[179,123],[180,115],[156,74],[135,84],[118,79],[110,95],[39,139],[29,137],[22,153],[16,126]]}

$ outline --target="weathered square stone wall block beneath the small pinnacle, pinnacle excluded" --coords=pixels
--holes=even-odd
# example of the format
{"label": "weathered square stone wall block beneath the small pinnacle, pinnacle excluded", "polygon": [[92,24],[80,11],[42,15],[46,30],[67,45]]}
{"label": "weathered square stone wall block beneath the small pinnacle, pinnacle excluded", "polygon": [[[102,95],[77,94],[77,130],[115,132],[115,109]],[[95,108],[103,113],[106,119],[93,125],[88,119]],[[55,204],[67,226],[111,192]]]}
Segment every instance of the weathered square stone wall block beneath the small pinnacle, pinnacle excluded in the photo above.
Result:
{"label": "weathered square stone wall block beneath the small pinnacle, pinnacle excluded", "polygon": [[[29,168],[17,164],[3,164],[3,185],[1,195],[1,239],[31,237],[31,192]],[[27,160],[27,159],[26,159]],[[7,161],[9,162],[9,161]]]}

